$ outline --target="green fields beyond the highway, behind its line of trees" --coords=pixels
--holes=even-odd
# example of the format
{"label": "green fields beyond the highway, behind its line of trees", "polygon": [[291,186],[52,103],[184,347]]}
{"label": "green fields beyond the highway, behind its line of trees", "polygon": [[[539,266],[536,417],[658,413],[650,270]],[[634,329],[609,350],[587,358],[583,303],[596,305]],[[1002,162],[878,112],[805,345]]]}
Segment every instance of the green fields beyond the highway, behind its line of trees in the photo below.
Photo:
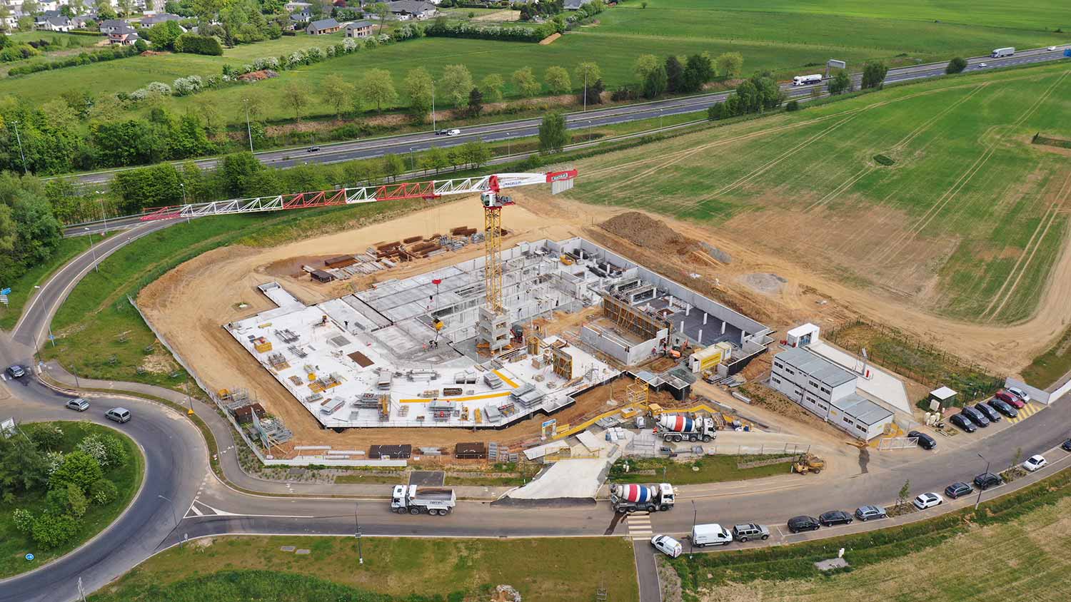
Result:
{"label": "green fields beyond the highway, behind its line of trees", "polygon": [[[465,12],[467,15],[467,12]],[[358,80],[364,70],[390,71],[401,94],[405,74],[423,66],[433,75],[449,64],[465,64],[479,81],[497,73],[509,81],[518,67],[530,66],[542,79],[548,66],[571,68],[584,60],[594,60],[602,68],[607,88],[630,83],[633,63],[639,55],[665,57],[726,51],[741,52],[744,73],[771,70],[787,79],[801,70],[825,64],[827,59],[845,60],[858,70],[868,59],[883,59],[890,64],[933,61],[955,55],[989,52],[997,46],[1020,48],[1066,43],[1071,31],[1071,12],[1061,0],[1035,0],[1029,6],[986,0],[981,5],[953,0],[935,5],[923,0],[897,0],[872,3],[863,0],[833,2],[810,0],[764,2],[761,9],[742,0],[649,0],[627,2],[599,15],[598,24],[577,28],[554,44],[461,38],[423,38],[393,46],[364,50],[328,60],[281,77],[257,82],[257,94],[266,99],[269,120],[292,118],[283,102],[283,88],[298,80],[310,91],[307,114],[332,111],[316,94],[316,87],[330,74]],[[337,43],[341,33],[325,36],[299,34],[275,41],[227,49],[223,57],[164,55],[136,57],[43,72],[12,79],[0,79],[0,95],[13,95],[31,102],[51,99],[50,90],[86,88],[96,95],[132,92],[150,81],[170,83],[188,75],[217,75],[224,64],[252,62],[259,57],[277,57],[298,48],[325,47]],[[574,86],[578,82],[574,81]],[[165,105],[177,110],[194,109],[202,104],[218,107],[223,117],[240,121],[236,107],[251,93],[245,86],[202,92],[183,98],[168,98]],[[507,84],[507,96],[515,95]],[[402,94],[399,104],[408,99]],[[147,112],[147,107],[134,112]]]}

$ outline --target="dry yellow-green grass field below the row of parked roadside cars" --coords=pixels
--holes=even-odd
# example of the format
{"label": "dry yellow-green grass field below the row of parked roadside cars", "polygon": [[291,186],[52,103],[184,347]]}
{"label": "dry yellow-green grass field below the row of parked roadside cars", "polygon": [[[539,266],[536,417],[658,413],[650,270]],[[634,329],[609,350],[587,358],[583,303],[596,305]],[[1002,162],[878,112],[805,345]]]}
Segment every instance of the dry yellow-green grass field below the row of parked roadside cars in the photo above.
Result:
{"label": "dry yellow-green grass field below the row of parked roadside cars", "polygon": [[[1010,509],[1010,516],[957,512],[951,521],[927,521],[869,538],[704,554],[692,566],[676,565],[684,599],[704,602],[1062,600],[1071,586],[1071,497],[1065,487],[1044,504],[1027,504],[1029,511]],[[840,546],[847,547],[850,572],[816,574],[811,562],[834,557]]]}

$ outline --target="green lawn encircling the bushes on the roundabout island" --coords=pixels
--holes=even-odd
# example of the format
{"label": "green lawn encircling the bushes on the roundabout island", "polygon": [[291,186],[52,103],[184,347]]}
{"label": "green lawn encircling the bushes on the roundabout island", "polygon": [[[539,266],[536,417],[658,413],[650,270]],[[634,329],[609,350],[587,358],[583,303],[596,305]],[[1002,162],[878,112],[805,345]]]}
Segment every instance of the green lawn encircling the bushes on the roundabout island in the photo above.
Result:
{"label": "green lawn encircling the bushes on the roundabout island", "polygon": [[[123,442],[129,458],[126,465],[104,473],[106,479],[116,483],[119,496],[104,506],[90,505],[77,537],[70,544],[55,550],[40,550],[33,540],[15,529],[11,518],[12,511],[16,508],[26,508],[33,513],[40,512],[44,504],[45,492],[22,496],[12,504],[0,500],[0,578],[35,569],[81,545],[86,540],[110,525],[141,487],[145,460],[133,439],[114,429],[90,422],[63,421],[54,423],[63,429],[63,444],[60,446],[60,450],[64,452],[73,450],[82,437],[94,433],[114,434]],[[32,553],[34,559],[27,561],[25,558],[27,553]]]}

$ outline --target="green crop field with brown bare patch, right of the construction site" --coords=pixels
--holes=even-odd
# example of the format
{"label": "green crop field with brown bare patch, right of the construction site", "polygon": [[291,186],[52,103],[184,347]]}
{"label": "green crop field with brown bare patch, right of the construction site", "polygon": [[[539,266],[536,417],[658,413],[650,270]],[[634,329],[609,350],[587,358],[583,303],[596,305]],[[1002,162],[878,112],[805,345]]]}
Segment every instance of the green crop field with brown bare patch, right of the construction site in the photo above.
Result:
{"label": "green crop field with brown bare patch, right of the construction site", "polygon": [[[969,321],[1030,317],[1065,241],[1067,65],[862,95],[580,161],[570,195],[720,226]],[[893,165],[874,156],[884,154]]]}

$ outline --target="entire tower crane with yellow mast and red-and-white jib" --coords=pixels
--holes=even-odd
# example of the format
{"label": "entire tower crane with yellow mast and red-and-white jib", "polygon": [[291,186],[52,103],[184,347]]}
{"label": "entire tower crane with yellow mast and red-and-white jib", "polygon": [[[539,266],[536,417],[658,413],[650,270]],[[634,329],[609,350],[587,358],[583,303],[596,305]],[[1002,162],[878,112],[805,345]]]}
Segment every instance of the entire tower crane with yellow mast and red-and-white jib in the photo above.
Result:
{"label": "entire tower crane with yellow mast and red-and-white jib", "polygon": [[[552,171],[546,173],[494,173],[474,177],[453,180],[432,180],[427,182],[404,182],[380,186],[338,188],[315,192],[297,192],[273,197],[251,197],[207,203],[187,203],[147,210],[141,221],[156,219],[179,219],[209,215],[230,215],[236,213],[257,213],[293,209],[349,205],[402,199],[437,199],[449,195],[480,195],[483,204],[483,229],[485,241],[484,285],[486,288],[485,312],[499,322],[504,321],[502,305],[502,215],[503,206],[512,205],[513,199],[502,195],[502,189],[537,184],[550,184],[550,192],[557,195],[573,187],[576,170]],[[491,341],[492,351],[495,343]]]}

